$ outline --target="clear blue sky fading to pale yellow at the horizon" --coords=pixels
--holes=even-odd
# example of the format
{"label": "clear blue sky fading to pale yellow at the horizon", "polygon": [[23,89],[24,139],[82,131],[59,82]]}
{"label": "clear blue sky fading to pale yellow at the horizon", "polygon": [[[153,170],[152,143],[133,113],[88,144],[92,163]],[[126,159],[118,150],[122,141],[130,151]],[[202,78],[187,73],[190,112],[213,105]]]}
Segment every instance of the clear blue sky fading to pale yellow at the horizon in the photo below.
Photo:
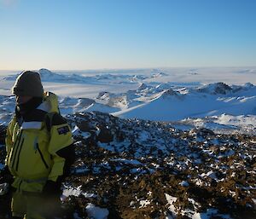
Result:
{"label": "clear blue sky fading to pale yellow at the horizon", "polygon": [[0,0],[0,69],[256,66],[254,0]]}

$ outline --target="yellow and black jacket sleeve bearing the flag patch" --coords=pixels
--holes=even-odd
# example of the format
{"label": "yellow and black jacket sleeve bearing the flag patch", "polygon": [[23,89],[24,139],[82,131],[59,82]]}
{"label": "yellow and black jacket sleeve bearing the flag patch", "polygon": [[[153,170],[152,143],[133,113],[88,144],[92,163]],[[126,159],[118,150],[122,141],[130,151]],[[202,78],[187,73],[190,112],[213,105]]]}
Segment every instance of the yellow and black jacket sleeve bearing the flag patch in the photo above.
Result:
{"label": "yellow and black jacket sleeve bearing the flag patch", "polygon": [[[46,125],[48,121],[46,120]],[[74,159],[72,132],[65,118],[55,113],[50,125],[48,151],[53,158],[53,166],[48,180],[57,182],[60,177],[67,175]]]}

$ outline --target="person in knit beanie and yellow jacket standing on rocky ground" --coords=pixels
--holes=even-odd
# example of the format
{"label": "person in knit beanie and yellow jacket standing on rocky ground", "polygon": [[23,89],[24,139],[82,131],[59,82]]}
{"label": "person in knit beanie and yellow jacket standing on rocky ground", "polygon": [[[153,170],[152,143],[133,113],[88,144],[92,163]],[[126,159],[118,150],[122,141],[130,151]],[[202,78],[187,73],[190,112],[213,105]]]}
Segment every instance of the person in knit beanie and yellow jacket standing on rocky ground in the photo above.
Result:
{"label": "person in knit beanie and yellow jacket standing on rocky ground", "polygon": [[14,176],[13,218],[54,218],[61,182],[74,161],[73,137],[57,96],[44,92],[38,72],[22,72],[12,92],[15,116],[7,129],[5,164]]}

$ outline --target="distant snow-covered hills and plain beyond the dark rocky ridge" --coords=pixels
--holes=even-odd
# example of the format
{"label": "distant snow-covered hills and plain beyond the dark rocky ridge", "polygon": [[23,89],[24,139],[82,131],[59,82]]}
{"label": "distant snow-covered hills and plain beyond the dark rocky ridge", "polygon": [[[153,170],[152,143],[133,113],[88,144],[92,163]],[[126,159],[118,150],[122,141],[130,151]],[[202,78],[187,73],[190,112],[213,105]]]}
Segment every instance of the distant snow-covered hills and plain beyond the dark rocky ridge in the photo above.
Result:
{"label": "distant snow-covered hills and plain beyond the dark rocky ridge", "polygon": [[[38,72],[44,89],[59,95],[62,114],[99,111],[172,121],[181,129],[255,130],[256,68]],[[9,120],[15,107],[8,95],[18,74],[1,72],[1,122]]]}

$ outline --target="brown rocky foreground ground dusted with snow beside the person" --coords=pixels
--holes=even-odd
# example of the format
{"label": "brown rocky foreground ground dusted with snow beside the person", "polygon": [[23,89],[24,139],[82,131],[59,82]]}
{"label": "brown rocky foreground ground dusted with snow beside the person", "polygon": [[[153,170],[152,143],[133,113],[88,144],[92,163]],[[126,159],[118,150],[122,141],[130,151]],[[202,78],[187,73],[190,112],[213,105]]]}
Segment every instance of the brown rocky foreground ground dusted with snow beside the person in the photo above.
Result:
{"label": "brown rocky foreground ground dusted with snow beside the person", "polygon": [[86,218],[89,203],[107,208],[108,218],[256,216],[255,135],[182,131],[102,112],[67,120],[77,158],[63,185],[64,217]]}

